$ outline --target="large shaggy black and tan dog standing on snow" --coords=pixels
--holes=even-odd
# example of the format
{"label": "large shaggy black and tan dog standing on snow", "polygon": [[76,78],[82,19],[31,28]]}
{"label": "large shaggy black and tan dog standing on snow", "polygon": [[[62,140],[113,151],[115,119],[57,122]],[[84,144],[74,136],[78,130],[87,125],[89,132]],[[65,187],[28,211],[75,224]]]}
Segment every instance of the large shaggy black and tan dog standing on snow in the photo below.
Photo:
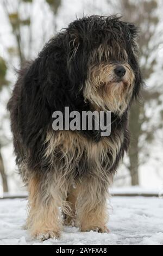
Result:
{"label": "large shaggy black and tan dog standing on snow", "polygon": [[[19,72],[8,109],[33,237],[59,237],[63,223],[108,232],[108,187],[128,149],[129,109],[142,86],[136,37],[135,26],[116,16],[84,17]],[[52,114],[65,106],[111,111],[111,135],[54,131]]]}

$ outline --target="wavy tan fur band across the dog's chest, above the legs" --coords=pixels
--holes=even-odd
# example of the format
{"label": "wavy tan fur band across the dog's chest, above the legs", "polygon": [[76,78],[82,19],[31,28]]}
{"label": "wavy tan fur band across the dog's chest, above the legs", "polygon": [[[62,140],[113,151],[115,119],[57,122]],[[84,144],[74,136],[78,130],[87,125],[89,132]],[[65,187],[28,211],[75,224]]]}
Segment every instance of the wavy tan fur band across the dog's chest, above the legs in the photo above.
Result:
{"label": "wavy tan fur band across the dog's chest, above the legs", "polygon": [[[102,163],[106,160],[107,153],[110,153],[112,159],[110,161],[110,167],[114,163],[116,156],[121,148],[123,142],[123,135],[117,133],[114,141],[111,137],[103,137],[98,143],[89,141],[85,137],[79,135],[79,133],[72,131],[58,131],[57,133],[48,133],[46,143],[48,144],[45,158],[49,160],[49,163],[53,166],[55,149],[59,149],[62,153],[61,158],[64,159],[64,164],[60,166],[60,178],[64,181],[64,176],[70,174],[71,182],[73,183],[73,170],[76,169],[78,162],[80,161],[84,151],[86,151],[87,161],[93,161],[96,163],[96,170],[92,170],[93,175],[97,175],[101,179],[106,179],[106,170],[102,167]],[[106,160],[107,161],[107,160]],[[53,166],[55,168],[56,166]],[[55,177],[55,180],[58,180]],[[60,184],[60,182],[59,182]]]}

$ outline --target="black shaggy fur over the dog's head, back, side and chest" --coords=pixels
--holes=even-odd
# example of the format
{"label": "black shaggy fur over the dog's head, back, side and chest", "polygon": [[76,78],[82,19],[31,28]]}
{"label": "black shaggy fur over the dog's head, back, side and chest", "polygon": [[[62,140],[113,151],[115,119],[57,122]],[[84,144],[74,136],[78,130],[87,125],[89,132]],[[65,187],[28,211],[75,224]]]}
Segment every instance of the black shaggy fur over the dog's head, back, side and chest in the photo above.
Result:
{"label": "black shaggy fur over the dog's head, back, side and chest", "polygon": [[[127,126],[130,104],[139,95],[142,86],[139,63],[133,51],[133,48],[136,49],[136,36],[134,25],[122,22],[115,16],[84,17],[70,23],[45,45],[33,62],[26,64],[19,72],[8,103],[18,165],[26,161],[30,170],[48,170],[48,163],[43,162],[42,157],[46,148],[46,132],[52,130],[52,113],[64,111],[65,106],[70,107],[70,111],[90,110],[90,103],[85,103],[83,96],[90,53],[101,44],[114,47],[116,42],[122,50],[126,50],[129,65],[135,74],[133,96],[127,111],[121,118],[112,113],[111,136],[116,136],[114,131],[123,131],[124,134],[117,159],[111,169],[108,167],[109,172],[116,170],[129,144]],[[72,57],[76,44],[79,47]],[[112,60],[118,62],[118,56],[112,56]],[[97,142],[101,139],[95,131],[82,133],[87,139]],[[83,174],[84,163],[88,164],[86,161],[79,163],[78,174]]]}

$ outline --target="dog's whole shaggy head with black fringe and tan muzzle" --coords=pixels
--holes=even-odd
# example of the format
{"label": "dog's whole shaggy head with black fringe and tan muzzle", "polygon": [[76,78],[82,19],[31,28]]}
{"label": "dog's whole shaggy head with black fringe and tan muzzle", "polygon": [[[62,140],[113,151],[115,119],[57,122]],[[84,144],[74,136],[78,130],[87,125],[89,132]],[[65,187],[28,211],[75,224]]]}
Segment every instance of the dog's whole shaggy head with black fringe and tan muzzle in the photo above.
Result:
{"label": "dog's whole shaggy head with black fringe and tan muzzle", "polygon": [[71,23],[68,33],[68,69],[85,102],[124,113],[142,83],[135,26],[117,17],[91,16]]}

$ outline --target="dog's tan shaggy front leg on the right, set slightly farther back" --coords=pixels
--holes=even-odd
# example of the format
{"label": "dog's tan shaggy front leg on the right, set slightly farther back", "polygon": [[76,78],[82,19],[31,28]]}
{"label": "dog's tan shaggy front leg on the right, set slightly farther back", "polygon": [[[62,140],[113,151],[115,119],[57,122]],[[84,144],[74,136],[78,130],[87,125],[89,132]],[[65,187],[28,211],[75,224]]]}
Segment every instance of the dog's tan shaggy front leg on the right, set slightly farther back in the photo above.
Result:
{"label": "dog's tan shaggy front leg on the right, set slightly farther back", "polygon": [[91,178],[82,182],[77,204],[77,216],[81,231],[109,232],[109,229],[106,227],[108,221],[106,207],[108,184],[104,183],[97,178]]}

